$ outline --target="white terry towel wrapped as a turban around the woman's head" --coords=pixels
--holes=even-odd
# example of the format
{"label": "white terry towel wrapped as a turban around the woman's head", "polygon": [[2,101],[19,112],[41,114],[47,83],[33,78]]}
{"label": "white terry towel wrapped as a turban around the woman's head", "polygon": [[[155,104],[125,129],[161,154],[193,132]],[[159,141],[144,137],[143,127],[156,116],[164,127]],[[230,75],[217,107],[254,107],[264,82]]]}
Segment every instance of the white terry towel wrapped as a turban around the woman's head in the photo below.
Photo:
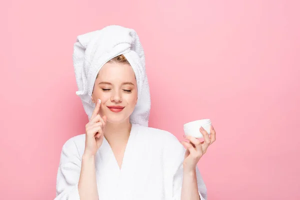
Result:
{"label": "white terry towel wrapped as a turban around the woman's head", "polygon": [[73,65],[83,108],[90,119],[95,104],[92,89],[100,68],[111,58],[123,54],[136,76],[137,103],[130,122],[148,126],[150,93],[145,71],[145,57],[139,37],[133,29],[109,25],[77,36],[73,46]]}

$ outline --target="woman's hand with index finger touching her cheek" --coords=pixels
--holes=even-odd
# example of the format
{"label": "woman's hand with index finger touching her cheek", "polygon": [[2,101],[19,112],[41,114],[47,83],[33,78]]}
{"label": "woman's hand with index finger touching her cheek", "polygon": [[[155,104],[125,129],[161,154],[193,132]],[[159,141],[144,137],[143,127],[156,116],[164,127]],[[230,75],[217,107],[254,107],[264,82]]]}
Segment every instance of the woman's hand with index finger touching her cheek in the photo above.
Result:
{"label": "woman's hand with index finger touching her cheek", "polygon": [[98,99],[90,120],[85,125],[85,155],[94,156],[103,142],[106,116],[100,116],[100,104],[101,100]]}

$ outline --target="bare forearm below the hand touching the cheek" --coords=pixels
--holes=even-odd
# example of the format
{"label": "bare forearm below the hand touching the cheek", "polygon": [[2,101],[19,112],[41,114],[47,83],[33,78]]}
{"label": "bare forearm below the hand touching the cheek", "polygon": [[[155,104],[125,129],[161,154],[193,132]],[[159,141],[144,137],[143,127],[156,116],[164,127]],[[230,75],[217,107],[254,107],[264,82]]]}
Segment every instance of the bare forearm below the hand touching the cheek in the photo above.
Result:
{"label": "bare forearm below the hand touching the cheek", "polygon": [[80,200],[98,200],[95,157],[83,154],[78,182]]}

